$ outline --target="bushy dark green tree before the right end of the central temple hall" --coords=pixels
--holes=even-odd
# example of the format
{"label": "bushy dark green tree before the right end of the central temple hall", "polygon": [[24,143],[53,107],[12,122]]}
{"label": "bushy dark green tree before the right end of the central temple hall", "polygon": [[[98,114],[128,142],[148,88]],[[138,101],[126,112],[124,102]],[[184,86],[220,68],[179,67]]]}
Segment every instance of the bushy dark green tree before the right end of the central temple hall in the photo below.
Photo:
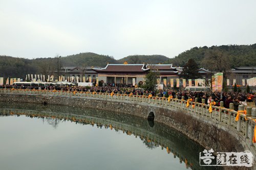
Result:
{"label": "bushy dark green tree before the right end of the central temple hall", "polygon": [[145,77],[144,88],[147,90],[155,90],[157,85],[157,79],[159,78],[159,73],[157,71],[150,71]]}

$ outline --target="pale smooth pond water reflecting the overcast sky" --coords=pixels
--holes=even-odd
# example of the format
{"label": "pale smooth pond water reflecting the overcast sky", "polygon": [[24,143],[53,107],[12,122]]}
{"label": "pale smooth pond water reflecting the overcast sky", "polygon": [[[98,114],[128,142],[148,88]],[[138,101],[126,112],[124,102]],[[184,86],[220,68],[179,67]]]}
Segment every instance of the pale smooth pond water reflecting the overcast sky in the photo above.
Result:
{"label": "pale smooth pond water reflecting the overcast sky", "polygon": [[141,139],[96,126],[0,117],[0,169],[186,169],[179,158]]}

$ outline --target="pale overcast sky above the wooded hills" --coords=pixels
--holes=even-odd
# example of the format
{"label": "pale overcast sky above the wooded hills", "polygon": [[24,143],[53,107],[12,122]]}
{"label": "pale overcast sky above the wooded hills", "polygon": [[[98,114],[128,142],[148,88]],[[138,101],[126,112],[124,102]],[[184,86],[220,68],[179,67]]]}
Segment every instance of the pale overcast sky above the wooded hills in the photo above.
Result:
{"label": "pale overcast sky above the wooded hills", "polygon": [[172,58],[195,46],[253,44],[255,7],[255,0],[0,0],[0,55]]}

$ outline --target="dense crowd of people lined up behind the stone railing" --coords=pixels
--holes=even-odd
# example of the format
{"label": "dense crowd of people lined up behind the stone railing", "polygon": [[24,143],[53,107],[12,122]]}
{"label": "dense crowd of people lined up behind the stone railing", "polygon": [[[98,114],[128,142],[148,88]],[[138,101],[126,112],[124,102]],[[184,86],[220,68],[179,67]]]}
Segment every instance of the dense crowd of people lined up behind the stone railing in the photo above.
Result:
{"label": "dense crowd of people lined up behind the stone railing", "polygon": [[[132,84],[103,84],[103,86],[12,86],[2,85],[0,88],[14,88],[14,89],[40,89],[40,90],[63,90],[63,91],[89,91],[89,92],[106,92],[106,93],[119,93],[119,94],[136,94],[145,96],[158,96],[165,97],[172,96],[172,98],[184,99],[195,101],[197,98],[198,103],[205,101],[205,104],[214,102],[216,106],[220,106],[220,102],[223,101],[224,107],[229,108],[229,104],[233,103],[234,110],[238,109],[241,102],[254,102],[256,105],[256,93],[244,93],[244,92],[204,92],[204,91],[184,91],[174,90],[170,88],[162,90],[145,90],[142,88],[136,88]],[[204,99],[204,100],[203,100]]]}

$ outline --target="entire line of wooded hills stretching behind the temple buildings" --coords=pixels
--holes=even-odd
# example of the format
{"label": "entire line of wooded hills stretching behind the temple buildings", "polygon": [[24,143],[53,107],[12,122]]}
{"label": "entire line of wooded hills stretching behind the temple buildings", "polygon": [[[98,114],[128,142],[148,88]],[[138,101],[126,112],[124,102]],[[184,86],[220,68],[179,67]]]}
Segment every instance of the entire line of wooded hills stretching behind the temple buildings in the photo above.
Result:
{"label": "entire line of wooded hills stretching behind the temple buildings", "polygon": [[199,67],[212,71],[226,71],[238,66],[256,66],[256,43],[251,45],[221,45],[194,47],[175,58],[163,55],[132,55],[119,60],[95,53],[79,53],[66,57],[25,59],[0,56],[0,77],[25,78],[26,74],[52,75],[61,66],[98,66],[107,63],[122,64],[173,64],[183,66],[194,59]]}

